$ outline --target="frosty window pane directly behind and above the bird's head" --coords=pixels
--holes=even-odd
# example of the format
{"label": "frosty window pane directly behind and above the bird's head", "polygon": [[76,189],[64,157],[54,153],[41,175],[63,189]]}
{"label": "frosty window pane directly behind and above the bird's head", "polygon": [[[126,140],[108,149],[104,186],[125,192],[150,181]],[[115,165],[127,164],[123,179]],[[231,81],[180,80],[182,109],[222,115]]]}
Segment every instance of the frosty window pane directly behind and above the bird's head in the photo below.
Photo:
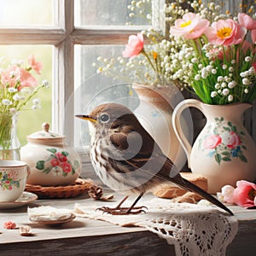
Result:
{"label": "frosty window pane directly behind and above the bird's head", "polygon": [[[129,79],[114,80],[101,73],[96,73],[93,63],[98,56],[103,59],[111,59],[120,54],[124,45],[95,45],[75,47],[75,91],[74,91],[74,112],[89,113],[97,105],[106,102],[117,102],[131,109],[138,106],[137,95],[131,90]],[[115,72],[121,72],[122,67],[117,67]],[[72,103],[72,102],[71,102]],[[66,106],[68,107],[68,104]],[[74,119],[76,147],[86,147],[90,143],[88,124]],[[83,125],[83,135],[80,134],[80,127]]]}

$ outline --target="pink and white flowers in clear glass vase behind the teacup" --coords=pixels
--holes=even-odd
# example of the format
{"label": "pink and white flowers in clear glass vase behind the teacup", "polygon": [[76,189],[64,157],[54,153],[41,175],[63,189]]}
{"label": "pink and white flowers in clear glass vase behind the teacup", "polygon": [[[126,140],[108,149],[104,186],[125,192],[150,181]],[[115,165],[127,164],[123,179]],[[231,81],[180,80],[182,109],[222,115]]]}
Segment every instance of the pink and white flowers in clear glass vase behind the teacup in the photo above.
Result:
{"label": "pink and white flowers in clear glass vase behind the teacup", "polygon": [[[38,79],[32,72],[40,75],[42,68],[42,63],[36,61],[34,55],[30,55],[26,66],[23,61],[14,61],[0,70],[0,159],[12,158],[14,148],[19,151],[20,144],[15,140],[13,129],[19,111],[27,109],[27,103],[31,100],[32,109],[41,108],[40,99],[33,96],[38,90],[48,88],[49,83],[43,80],[38,85]],[[19,155],[16,158],[19,159]]]}

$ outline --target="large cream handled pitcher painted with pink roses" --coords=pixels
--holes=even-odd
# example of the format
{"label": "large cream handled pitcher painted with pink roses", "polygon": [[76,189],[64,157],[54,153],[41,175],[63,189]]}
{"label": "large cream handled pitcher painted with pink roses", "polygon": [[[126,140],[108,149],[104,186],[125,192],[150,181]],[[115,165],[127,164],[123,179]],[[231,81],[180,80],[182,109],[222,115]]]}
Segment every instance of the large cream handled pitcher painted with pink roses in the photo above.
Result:
{"label": "large cream handled pitcher painted with pink roses", "polygon": [[[200,109],[207,118],[193,147],[178,122],[183,110],[189,107]],[[207,177],[209,193],[217,193],[226,184],[236,187],[237,180],[252,182],[256,177],[256,147],[242,125],[242,115],[251,107],[248,103],[208,105],[188,99],[173,112],[173,129],[187,154],[189,168]]]}

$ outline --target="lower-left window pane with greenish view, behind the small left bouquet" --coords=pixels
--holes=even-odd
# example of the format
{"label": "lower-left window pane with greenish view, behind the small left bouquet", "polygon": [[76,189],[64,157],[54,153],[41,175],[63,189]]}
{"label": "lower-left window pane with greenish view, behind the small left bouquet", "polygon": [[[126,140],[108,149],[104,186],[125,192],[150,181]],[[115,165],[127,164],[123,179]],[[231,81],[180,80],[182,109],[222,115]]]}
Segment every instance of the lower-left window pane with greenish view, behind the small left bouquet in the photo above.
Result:
{"label": "lower-left window pane with greenish view, behind the small left bouquet", "polygon": [[[19,119],[18,119],[18,137],[20,139],[21,145],[26,144],[26,136],[35,131],[40,131],[41,126],[44,122],[51,123],[51,77],[52,77],[52,46],[46,45],[10,45],[0,46],[0,67],[1,73],[0,75],[0,84],[1,89],[6,86],[6,80],[3,80],[3,75],[6,71],[9,71],[11,67],[16,67],[16,65],[20,65],[20,69],[24,67],[24,69],[29,67],[28,57],[29,55],[34,55],[36,61],[40,61],[43,64],[43,68],[41,69],[39,75],[35,72],[35,70],[31,70],[29,73],[38,81],[37,87],[42,84],[44,79],[49,81],[49,88],[42,88],[38,90],[35,96],[32,97],[26,103],[23,110],[20,110]],[[34,69],[37,66],[34,67]],[[9,79],[8,74],[15,75],[18,71],[15,69],[15,73],[7,73],[5,79]],[[28,77],[27,73],[25,73],[29,86],[33,80],[31,77]],[[23,78],[25,78],[25,75]],[[20,76],[21,77],[21,76]],[[21,80],[21,79],[20,79]],[[35,84],[36,85],[36,84]],[[19,89],[20,90],[20,89]],[[38,108],[32,110],[35,106],[36,102],[33,102],[34,98],[39,98],[41,103],[37,106]],[[2,99],[1,99],[2,100]],[[21,102],[21,101],[20,101]],[[11,107],[11,105],[10,105]]]}

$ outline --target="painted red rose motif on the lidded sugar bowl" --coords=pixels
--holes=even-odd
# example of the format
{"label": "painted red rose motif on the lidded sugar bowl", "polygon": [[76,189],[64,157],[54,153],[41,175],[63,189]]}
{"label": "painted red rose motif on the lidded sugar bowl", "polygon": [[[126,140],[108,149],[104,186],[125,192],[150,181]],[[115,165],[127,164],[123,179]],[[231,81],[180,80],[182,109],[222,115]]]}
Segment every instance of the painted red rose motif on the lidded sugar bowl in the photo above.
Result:
{"label": "painted red rose motif on the lidded sugar bowl", "polygon": [[38,160],[36,168],[45,174],[52,172],[55,176],[67,177],[68,174],[75,174],[79,168],[79,160],[74,160],[73,164],[67,159],[67,151],[57,152],[55,148],[47,148],[51,154],[48,160]]}

